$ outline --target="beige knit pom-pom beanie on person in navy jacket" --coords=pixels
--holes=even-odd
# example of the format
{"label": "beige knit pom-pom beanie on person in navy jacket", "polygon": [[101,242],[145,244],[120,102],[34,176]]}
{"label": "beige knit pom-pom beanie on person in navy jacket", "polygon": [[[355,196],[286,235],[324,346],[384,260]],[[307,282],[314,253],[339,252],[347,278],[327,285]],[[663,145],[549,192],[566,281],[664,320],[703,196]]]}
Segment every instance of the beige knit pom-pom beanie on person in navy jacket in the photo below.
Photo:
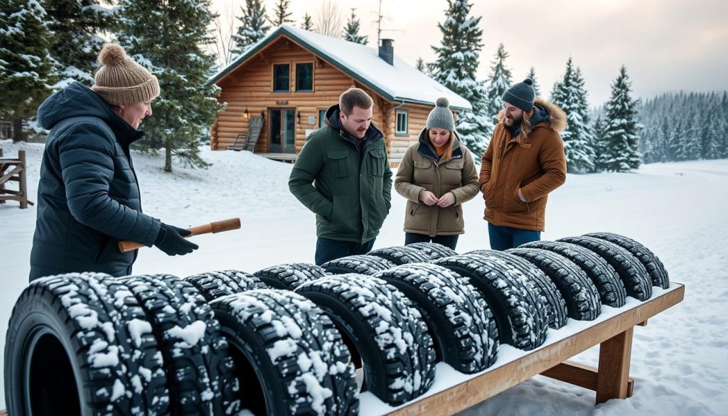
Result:
{"label": "beige knit pom-pom beanie on person in navy jacket", "polygon": [[127,57],[118,44],[104,45],[98,54],[101,68],[91,87],[104,101],[113,105],[143,103],[159,96],[157,76]]}

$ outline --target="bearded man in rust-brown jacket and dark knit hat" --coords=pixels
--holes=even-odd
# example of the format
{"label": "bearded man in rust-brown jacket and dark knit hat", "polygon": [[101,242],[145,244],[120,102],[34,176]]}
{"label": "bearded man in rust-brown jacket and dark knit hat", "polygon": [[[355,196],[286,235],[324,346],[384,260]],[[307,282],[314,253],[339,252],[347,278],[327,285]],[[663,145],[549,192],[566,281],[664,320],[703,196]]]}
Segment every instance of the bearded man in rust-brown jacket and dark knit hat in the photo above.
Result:
{"label": "bearded man in rust-brown jacket and dark knit hat", "polygon": [[558,132],[566,114],[534,99],[526,79],[503,94],[503,110],[480,162],[491,248],[506,250],[537,241],[545,225],[549,192],[566,181],[566,154]]}

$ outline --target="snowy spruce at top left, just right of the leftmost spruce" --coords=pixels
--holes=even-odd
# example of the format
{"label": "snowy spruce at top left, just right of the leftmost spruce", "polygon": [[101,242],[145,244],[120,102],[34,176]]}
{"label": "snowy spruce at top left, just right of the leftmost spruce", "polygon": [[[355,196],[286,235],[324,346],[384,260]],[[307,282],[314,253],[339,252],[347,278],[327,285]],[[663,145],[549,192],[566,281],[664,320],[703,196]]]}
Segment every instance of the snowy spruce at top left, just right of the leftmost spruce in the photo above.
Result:
{"label": "snowy spruce at top left, just right of the leftmost spruce", "polygon": [[114,28],[114,11],[103,7],[106,0],[46,0],[48,27],[53,32],[50,54],[60,66],[60,81],[56,88],[63,88],[78,81],[90,87],[98,69],[98,52],[106,41],[102,32]]}

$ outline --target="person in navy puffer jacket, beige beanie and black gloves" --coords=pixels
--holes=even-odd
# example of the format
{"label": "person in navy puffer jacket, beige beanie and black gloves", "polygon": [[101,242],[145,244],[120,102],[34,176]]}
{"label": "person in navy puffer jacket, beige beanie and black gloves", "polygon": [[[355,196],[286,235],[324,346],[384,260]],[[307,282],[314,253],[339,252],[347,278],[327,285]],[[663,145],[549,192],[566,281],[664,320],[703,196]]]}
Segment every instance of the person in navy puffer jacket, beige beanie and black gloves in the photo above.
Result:
{"label": "person in navy puffer jacket, beige beanie and black gloves", "polygon": [[74,82],[38,110],[50,130],[38,186],[30,280],[66,272],[130,275],[137,251],[121,253],[119,240],[157,246],[170,256],[191,253],[189,235],[142,213],[129,146],[151,116],[157,77],[107,44],[90,89]]}

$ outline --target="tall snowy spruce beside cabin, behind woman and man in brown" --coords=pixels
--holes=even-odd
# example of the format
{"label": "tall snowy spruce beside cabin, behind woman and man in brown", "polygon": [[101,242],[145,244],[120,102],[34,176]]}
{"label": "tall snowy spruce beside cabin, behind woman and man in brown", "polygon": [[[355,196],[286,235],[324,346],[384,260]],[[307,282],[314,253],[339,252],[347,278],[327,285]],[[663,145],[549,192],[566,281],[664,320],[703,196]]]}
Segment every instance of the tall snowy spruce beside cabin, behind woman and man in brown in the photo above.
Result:
{"label": "tall snowy spruce beside cabin, behind woman and man in brown", "polygon": [[471,7],[467,0],[448,0],[445,22],[438,23],[443,39],[439,47],[432,47],[437,59],[428,68],[432,79],[470,102],[472,111],[460,112],[455,128],[478,157],[488,146],[494,126],[486,109],[485,86],[475,80],[483,31],[478,28],[481,17],[469,16]]}

